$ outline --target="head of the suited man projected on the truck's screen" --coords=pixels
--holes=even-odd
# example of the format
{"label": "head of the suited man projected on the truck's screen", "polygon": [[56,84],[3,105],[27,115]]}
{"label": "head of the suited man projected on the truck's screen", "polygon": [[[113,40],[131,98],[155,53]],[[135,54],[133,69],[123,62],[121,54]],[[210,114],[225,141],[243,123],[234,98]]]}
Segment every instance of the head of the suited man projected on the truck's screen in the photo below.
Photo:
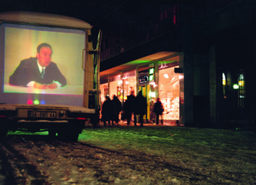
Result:
{"label": "head of the suited man projected on the truck's screen", "polygon": [[38,58],[38,63],[39,65],[42,66],[42,68],[50,65],[52,53],[53,53],[53,49],[49,44],[42,43],[41,45],[38,45],[37,58]]}

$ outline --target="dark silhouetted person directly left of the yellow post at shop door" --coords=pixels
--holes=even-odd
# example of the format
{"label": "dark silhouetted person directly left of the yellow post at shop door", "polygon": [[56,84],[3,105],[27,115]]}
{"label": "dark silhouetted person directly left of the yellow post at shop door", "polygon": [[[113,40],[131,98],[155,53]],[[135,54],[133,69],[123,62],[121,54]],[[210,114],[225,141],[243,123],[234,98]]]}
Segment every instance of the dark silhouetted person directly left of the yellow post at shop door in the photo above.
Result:
{"label": "dark silhouetted person directly left of the yellow post at shop door", "polygon": [[[135,115],[139,115],[141,127],[143,127],[143,116],[146,114],[146,97],[142,95],[142,91],[139,91],[138,96],[136,96],[134,108]],[[135,123],[134,126],[136,126]]]}

